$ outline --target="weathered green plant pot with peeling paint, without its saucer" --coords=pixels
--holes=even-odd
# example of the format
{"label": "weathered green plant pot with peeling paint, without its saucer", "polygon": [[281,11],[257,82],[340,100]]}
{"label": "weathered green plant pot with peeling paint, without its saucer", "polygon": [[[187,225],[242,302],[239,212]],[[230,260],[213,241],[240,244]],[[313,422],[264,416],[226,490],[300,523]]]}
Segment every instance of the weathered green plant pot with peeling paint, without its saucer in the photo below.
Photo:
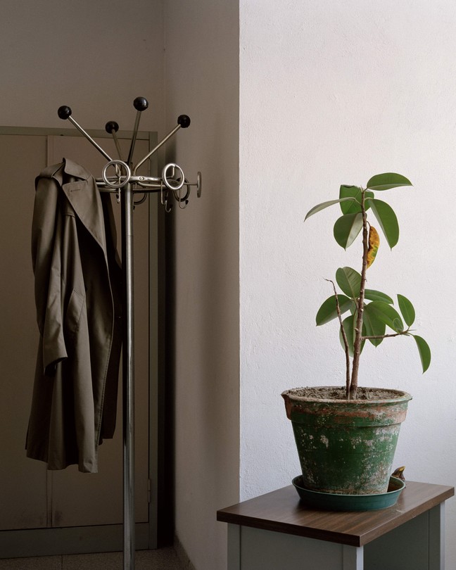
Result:
{"label": "weathered green plant pot with peeling paint, without its saucer", "polygon": [[[311,395],[305,395],[309,392]],[[321,393],[331,391],[329,398]],[[412,396],[398,390],[293,388],[282,393],[293,425],[303,486],[322,493],[386,493],[400,424]],[[363,398],[363,399],[361,399]]]}

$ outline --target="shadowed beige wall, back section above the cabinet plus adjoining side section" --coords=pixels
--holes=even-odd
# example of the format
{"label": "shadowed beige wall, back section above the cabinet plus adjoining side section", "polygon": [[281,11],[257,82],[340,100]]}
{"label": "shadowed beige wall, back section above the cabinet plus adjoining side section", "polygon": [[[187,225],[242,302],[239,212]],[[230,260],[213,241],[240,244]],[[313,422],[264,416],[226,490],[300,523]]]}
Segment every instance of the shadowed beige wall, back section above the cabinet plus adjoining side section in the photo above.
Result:
{"label": "shadowed beige wall, back section above the cabinet plus adjoining side section", "polygon": [[[165,11],[164,11],[165,10]],[[176,531],[198,570],[224,567],[217,508],[239,498],[239,2],[46,0],[1,5],[0,125],[165,134],[203,196],[175,209]],[[165,51],[164,51],[165,48]],[[209,56],[209,57],[208,57]]]}

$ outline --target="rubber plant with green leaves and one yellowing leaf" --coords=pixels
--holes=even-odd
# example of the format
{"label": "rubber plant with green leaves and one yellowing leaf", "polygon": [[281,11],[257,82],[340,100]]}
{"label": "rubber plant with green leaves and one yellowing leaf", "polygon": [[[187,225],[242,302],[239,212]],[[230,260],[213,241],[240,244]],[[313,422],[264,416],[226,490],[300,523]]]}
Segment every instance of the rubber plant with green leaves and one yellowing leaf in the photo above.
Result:
{"label": "rubber plant with green leaves and one yellowing leaf", "polygon": [[[357,397],[360,355],[365,341],[374,346],[395,336],[411,336],[417,344],[423,372],[431,363],[431,350],[428,343],[412,331],[415,311],[412,303],[403,295],[397,295],[398,308],[393,306],[393,299],[374,289],[366,289],[366,274],[374,262],[379,249],[379,232],[367,220],[372,213],[386,242],[393,248],[399,239],[399,225],[393,208],[375,197],[374,192],[386,191],[401,186],[412,186],[405,176],[386,172],[373,176],[365,188],[342,185],[337,200],[316,205],[305,216],[308,217],[339,204],[342,215],[334,224],[334,239],[344,249],[355,243],[362,236],[361,272],[351,267],[339,267],[336,271],[336,283],[341,289],[338,293],[334,281],[331,282],[334,295],[327,298],[317,312],[317,326],[338,319],[339,336],[346,354],[346,398]],[[343,317],[345,313],[348,316]],[[405,324],[404,324],[405,323]],[[392,332],[386,332],[386,327]],[[351,361],[350,361],[351,359]]]}

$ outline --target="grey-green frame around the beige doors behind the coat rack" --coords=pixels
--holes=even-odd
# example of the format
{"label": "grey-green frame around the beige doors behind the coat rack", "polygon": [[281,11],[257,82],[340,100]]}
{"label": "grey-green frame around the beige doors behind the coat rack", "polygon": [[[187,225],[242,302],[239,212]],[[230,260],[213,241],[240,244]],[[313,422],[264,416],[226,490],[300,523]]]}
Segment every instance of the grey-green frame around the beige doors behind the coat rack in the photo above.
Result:
{"label": "grey-green frame around the beige doors behind the coat rack", "polygon": [[[112,139],[112,135],[103,130],[87,129],[93,138]],[[38,135],[46,137],[70,136],[83,137],[77,129],[58,129],[46,127],[4,127],[0,134]],[[131,139],[131,131],[118,131],[117,137]],[[148,140],[149,149],[158,142],[157,132],[139,131],[138,140]],[[87,144],[89,142],[87,141]],[[95,149],[94,149],[94,152]],[[158,171],[158,158],[153,155],[150,171]],[[38,174],[38,173],[37,173]],[[154,175],[154,174],[152,174]],[[163,307],[165,301],[164,248],[165,232],[164,208],[158,207],[158,194],[151,194],[148,200],[148,258],[149,258],[149,359],[148,359],[148,522],[137,523],[137,550],[153,550],[159,544],[160,497],[168,486],[164,481],[163,426],[165,414],[160,410],[159,402],[165,389],[165,350]],[[166,537],[167,539],[168,537]],[[0,559],[16,557],[51,556],[66,554],[85,554],[90,552],[118,552],[123,548],[123,525],[105,524],[94,526],[72,526],[63,528],[27,528],[0,531]]]}

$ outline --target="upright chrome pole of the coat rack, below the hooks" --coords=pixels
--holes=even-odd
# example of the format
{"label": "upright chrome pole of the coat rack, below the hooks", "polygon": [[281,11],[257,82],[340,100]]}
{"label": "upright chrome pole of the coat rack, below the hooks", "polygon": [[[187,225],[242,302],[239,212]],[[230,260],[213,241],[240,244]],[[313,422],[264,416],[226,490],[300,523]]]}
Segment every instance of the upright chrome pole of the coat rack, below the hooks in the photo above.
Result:
{"label": "upright chrome pole of the coat rack, below the hooks", "polygon": [[134,304],[133,304],[133,191],[121,194],[123,273],[123,504],[124,570],[134,570]]}

